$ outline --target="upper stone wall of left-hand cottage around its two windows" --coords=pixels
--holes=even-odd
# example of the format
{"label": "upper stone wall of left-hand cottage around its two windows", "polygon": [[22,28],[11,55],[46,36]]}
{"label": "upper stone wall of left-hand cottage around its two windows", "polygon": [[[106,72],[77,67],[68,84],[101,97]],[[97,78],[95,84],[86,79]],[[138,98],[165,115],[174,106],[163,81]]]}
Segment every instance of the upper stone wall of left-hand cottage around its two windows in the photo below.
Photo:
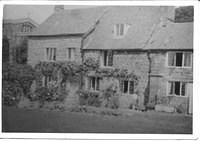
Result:
{"label": "upper stone wall of left-hand cottage around its two windows", "polygon": [[66,49],[76,48],[75,61],[81,62],[80,37],[41,37],[28,41],[28,64],[34,66],[39,61],[45,61],[45,50],[51,47],[56,48],[56,61],[67,61]]}

